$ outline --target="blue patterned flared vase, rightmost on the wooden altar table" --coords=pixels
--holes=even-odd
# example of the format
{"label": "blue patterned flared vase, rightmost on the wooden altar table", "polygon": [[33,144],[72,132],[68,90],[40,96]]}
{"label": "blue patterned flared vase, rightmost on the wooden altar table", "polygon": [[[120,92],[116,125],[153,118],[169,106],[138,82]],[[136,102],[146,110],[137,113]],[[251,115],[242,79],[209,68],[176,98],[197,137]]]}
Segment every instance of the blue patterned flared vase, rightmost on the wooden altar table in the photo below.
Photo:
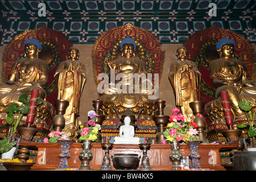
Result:
{"label": "blue patterned flared vase, rightmost on the wooden altar table", "polygon": [[198,146],[202,142],[202,140],[189,140],[188,142],[188,148],[190,151],[189,159],[191,159],[191,169],[199,169],[199,159],[201,158],[201,155],[197,152]]}

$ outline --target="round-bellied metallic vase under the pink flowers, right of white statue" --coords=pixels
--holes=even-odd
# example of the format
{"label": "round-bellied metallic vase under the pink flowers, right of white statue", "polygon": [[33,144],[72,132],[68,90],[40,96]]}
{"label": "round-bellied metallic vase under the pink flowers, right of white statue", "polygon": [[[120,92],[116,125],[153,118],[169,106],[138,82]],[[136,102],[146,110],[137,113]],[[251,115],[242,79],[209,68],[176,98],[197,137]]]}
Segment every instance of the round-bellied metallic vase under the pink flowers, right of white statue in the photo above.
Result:
{"label": "round-bellied metallic vase under the pink flowers, right of white statue", "polygon": [[172,162],[172,170],[178,171],[180,168],[180,161],[183,158],[183,155],[180,152],[180,143],[179,141],[171,142],[171,152],[169,159]]}

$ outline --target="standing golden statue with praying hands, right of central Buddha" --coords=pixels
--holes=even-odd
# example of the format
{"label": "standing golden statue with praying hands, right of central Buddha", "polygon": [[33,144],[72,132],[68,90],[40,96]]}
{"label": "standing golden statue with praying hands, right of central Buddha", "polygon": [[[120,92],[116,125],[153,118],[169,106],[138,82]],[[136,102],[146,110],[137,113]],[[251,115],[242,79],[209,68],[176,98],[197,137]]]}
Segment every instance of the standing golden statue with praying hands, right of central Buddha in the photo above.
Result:
{"label": "standing golden statue with praying hands, right of central Buddha", "polygon": [[201,73],[193,61],[187,60],[187,50],[181,46],[176,51],[177,60],[170,65],[169,80],[174,89],[176,107],[187,121],[188,117],[193,119],[193,111],[189,102],[199,101]]}

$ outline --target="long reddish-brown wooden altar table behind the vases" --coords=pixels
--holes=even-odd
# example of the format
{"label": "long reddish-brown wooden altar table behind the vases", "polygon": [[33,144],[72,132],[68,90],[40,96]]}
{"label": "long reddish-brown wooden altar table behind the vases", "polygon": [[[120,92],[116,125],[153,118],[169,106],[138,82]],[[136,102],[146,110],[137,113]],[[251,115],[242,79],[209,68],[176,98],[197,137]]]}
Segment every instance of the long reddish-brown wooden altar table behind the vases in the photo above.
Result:
{"label": "long reddish-brown wooden altar table behind the vases", "polygon": [[[26,146],[28,149],[38,150],[36,162],[31,167],[32,171],[37,170],[52,170],[59,166],[61,152],[60,143],[19,143],[20,146]],[[198,152],[201,155],[199,160],[201,168],[208,168],[217,171],[225,171],[221,166],[220,150],[237,148],[238,144],[200,144]],[[82,150],[81,143],[73,143],[69,150],[71,158],[68,159],[70,168],[79,168],[81,161],[79,154]],[[180,144],[180,151],[185,156],[189,155],[189,148],[187,144]],[[105,155],[105,150],[102,150],[100,143],[93,143],[92,147],[93,159],[90,162],[90,168],[100,170],[102,159]],[[151,144],[150,150],[147,151],[147,156],[150,159],[150,166],[152,170],[170,170],[172,163],[169,160],[171,147],[169,144]],[[112,150],[109,150],[111,158],[114,154],[138,154],[143,156],[142,150],[138,144],[113,144]],[[112,169],[113,162],[111,159]],[[139,167],[141,163],[139,164]],[[139,169],[138,167],[138,169]]]}

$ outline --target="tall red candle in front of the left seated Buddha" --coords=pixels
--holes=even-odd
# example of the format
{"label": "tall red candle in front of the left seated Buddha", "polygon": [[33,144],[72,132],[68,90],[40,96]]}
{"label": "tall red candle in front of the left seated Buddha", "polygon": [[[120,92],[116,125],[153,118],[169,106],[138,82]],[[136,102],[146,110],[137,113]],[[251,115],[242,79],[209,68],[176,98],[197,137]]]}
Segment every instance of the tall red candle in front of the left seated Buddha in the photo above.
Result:
{"label": "tall red candle in front of the left seated Buddha", "polygon": [[39,97],[39,90],[32,89],[31,97],[30,97],[30,110],[28,111],[28,114],[27,114],[28,127],[30,127],[30,124],[34,121],[36,103],[38,102],[38,97]]}

